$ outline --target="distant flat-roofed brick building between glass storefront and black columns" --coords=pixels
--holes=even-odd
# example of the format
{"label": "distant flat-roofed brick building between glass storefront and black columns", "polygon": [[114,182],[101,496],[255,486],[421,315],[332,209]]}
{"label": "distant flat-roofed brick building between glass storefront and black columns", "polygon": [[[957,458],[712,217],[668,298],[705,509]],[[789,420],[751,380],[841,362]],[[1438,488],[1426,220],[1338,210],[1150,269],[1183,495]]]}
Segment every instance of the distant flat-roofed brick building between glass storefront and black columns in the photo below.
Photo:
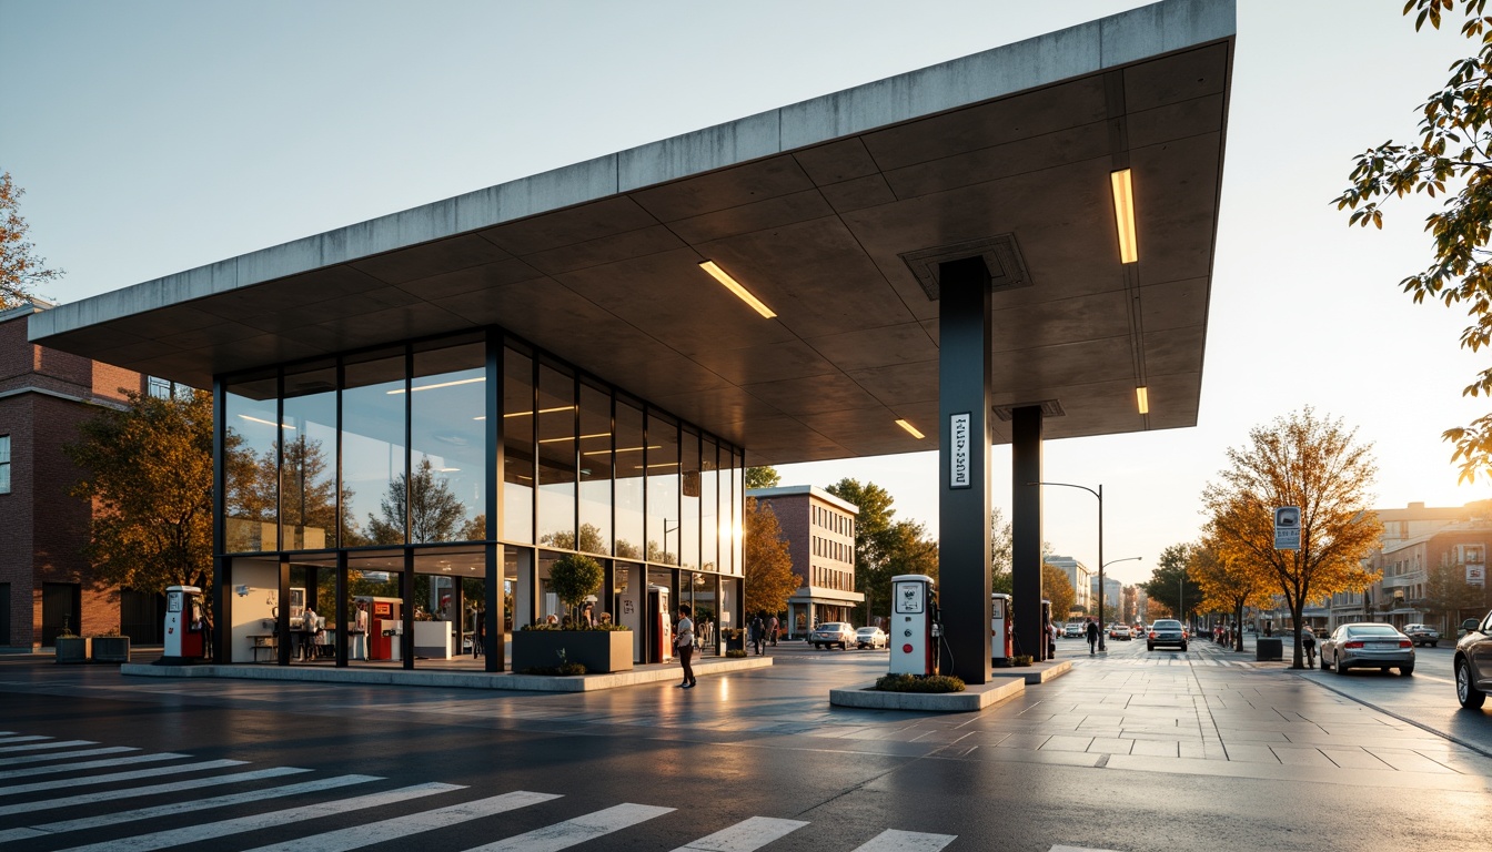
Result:
{"label": "distant flat-roofed brick building between glass storefront and black columns", "polygon": [[806,636],[827,621],[853,624],[853,607],[865,603],[864,592],[855,591],[859,506],[815,485],[749,488],[746,495],[771,506],[788,539],[792,571],[803,580],[788,598],[788,637]]}

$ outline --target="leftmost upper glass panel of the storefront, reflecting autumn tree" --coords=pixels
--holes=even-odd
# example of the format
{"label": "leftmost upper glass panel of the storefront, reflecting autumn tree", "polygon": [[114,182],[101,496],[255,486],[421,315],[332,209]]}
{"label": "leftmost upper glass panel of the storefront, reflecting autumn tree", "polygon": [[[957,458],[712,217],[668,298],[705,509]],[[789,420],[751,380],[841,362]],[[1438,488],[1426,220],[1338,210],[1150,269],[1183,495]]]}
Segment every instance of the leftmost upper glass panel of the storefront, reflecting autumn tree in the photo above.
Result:
{"label": "leftmost upper glass panel of the storefront, reflecting autumn tree", "polygon": [[273,375],[224,388],[224,552],[228,554],[279,548],[276,394]]}

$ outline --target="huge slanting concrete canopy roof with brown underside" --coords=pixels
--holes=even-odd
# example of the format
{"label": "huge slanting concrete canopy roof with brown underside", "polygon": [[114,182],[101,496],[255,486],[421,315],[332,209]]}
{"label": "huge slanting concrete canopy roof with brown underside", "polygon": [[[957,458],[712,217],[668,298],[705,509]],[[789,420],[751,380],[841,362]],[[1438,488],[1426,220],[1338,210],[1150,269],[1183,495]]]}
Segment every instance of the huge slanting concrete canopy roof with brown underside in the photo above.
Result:
{"label": "huge slanting concrete canopy roof with brown underside", "polygon": [[983,254],[997,410],[1044,404],[1046,437],[1195,425],[1232,37],[1231,1],[1167,0],[63,304],[31,339],[210,386],[494,324],[752,464],[879,455],[937,448],[931,275]]}

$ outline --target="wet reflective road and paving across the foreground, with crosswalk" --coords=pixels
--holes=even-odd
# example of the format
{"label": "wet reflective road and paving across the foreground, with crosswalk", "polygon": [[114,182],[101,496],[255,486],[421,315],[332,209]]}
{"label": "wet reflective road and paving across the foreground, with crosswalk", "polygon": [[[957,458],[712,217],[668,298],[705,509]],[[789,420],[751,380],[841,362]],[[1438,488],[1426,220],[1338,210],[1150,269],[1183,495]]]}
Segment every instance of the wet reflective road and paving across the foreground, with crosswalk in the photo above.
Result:
{"label": "wet reflective road and paving across the foreground, with crosswalk", "polygon": [[[7,852],[1486,849],[1492,759],[1480,746],[1492,713],[1453,710],[1432,665],[1411,679],[1288,673],[1207,645],[1183,655],[1115,642],[1088,658],[1064,642],[1071,674],[956,716],[831,709],[828,686],[873,679],[885,654],[797,645],[776,649],[773,668],[688,692],[580,695],[140,682],[6,661],[0,842]],[[1405,722],[1408,710],[1429,724]],[[82,754],[110,748],[137,751]],[[245,762],[188,765],[210,761]],[[309,771],[230,777],[289,768]],[[181,789],[76,798],[157,785]],[[283,794],[291,785],[307,789]],[[151,810],[127,813],[139,809]],[[121,815],[139,818],[110,824]]]}

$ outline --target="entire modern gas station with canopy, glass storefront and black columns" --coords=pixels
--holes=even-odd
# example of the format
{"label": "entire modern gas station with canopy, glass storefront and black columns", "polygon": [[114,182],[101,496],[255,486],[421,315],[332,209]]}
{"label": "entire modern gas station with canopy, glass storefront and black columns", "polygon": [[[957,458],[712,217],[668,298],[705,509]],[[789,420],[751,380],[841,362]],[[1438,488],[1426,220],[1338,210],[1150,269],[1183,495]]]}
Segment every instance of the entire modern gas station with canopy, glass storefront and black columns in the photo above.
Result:
{"label": "entire modern gas station with canopy, glass storefront and black columns", "polygon": [[482,580],[497,671],[576,551],[618,621],[659,588],[740,627],[747,464],[937,449],[947,660],[983,683],[989,446],[1029,649],[1043,442],[1197,424],[1234,18],[1165,0],[63,304],[31,339],[215,391],[219,661],[288,627],[263,607],[292,567],[342,625],[348,577],[385,577],[404,667],[416,577],[454,613],[437,577]]}

